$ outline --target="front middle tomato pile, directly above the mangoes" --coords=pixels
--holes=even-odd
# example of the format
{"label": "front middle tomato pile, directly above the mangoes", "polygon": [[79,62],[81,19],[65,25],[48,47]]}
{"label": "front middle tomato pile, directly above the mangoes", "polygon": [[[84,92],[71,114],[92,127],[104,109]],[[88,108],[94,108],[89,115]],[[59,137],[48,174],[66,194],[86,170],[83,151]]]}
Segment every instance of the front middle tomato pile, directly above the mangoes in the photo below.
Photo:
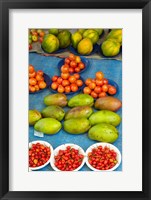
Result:
{"label": "front middle tomato pile, directly above the mangoes", "polygon": [[77,92],[79,87],[83,85],[78,73],[73,75],[61,73],[61,76],[53,76],[51,80],[51,88],[58,93]]}

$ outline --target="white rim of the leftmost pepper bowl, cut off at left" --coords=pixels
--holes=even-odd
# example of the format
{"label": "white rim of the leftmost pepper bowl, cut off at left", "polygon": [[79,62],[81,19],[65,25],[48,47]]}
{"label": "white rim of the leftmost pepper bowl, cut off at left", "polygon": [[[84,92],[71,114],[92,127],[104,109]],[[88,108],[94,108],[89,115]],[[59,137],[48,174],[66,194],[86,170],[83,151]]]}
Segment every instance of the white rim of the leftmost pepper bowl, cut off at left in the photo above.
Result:
{"label": "white rim of the leftmost pepper bowl, cut off at left", "polygon": [[37,140],[37,141],[30,142],[29,143],[29,149],[32,147],[32,144],[37,144],[37,143],[43,144],[44,146],[50,148],[50,152],[51,152],[50,158],[49,158],[49,160],[45,164],[43,164],[43,165],[41,165],[39,167],[29,167],[29,171],[42,169],[43,167],[45,167],[46,165],[48,165],[50,163],[50,160],[53,157],[53,147],[51,146],[51,144],[49,144],[46,141]]}

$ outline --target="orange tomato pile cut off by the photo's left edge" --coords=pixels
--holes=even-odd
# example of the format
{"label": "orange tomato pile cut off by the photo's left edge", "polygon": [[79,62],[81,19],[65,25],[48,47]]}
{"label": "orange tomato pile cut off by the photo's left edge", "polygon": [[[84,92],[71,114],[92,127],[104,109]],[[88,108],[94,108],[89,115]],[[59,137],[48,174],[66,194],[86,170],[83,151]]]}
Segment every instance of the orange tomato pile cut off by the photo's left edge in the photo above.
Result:
{"label": "orange tomato pile cut off by the photo's left edge", "polygon": [[44,72],[42,70],[35,71],[33,65],[29,65],[29,91],[36,92],[46,88],[44,81]]}

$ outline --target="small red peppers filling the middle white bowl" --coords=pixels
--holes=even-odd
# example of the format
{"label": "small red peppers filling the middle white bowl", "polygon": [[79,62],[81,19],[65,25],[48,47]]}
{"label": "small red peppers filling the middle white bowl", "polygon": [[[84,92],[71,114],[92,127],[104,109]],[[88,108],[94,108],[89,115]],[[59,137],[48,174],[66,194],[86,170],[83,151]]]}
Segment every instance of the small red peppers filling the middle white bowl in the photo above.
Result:
{"label": "small red peppers filling the middle white bowl", "polygon": [[65,150],[59,150],[55,158],[55,166],[61,171],[73,171],[77,169],[83,161],[84,155],[78,149],[67,146]]}

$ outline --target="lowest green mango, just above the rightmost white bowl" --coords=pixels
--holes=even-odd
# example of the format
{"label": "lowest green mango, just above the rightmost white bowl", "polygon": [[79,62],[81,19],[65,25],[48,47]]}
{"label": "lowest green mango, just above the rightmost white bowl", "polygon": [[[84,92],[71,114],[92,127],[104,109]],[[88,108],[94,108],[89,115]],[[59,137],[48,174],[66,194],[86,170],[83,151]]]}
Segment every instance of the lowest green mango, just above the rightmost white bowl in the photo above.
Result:
{"label": "lowest green mango, just above the rightmost white bowl", "polygon": [[88,137],[91,140],[113,143],[117,140],[118,130],[111,124],[101,123],[90,128]]}

